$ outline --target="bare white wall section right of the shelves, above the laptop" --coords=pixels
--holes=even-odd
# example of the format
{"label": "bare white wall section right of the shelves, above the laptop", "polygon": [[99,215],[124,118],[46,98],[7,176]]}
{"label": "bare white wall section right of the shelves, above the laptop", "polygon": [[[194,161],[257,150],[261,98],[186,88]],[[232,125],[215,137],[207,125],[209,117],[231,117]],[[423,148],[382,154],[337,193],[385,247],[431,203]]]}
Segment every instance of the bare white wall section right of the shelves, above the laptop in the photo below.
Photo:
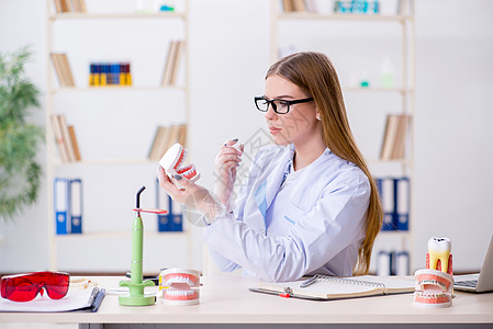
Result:
{"label": "bare white wall section right of the shelves, above the laptop", "polygon": [[[493,3],[418,1],[415,252],[452,240],[479,269],[493,232]],[[424,264],[424,259],[421,260]]]}

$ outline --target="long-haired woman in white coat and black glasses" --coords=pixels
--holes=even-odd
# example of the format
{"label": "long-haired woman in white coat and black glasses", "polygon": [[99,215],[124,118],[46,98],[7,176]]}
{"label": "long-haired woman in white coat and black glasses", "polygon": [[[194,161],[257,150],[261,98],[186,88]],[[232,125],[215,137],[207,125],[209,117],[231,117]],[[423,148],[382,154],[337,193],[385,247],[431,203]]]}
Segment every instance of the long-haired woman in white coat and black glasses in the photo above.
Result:
{"label": "long-haired woman in white coat and black glasses", "polygon": [[204,214],[203,239],[223,271],[243,268],[264,281],[367,273],[382,208],[333,64],[320,53],[280,59],[255,103],[274,145],[258,151],[236,202],[235,139],[216,157],[214,193],[176,175],[178,189],[163,168],[160,185]]}

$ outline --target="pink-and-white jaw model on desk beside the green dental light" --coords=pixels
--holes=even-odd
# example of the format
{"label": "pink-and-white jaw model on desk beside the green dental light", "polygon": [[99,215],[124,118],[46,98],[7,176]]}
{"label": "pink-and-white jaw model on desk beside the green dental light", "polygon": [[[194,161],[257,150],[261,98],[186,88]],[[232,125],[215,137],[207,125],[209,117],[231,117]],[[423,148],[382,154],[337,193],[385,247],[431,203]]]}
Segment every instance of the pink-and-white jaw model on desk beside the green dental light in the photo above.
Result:
{"label": "pink-and-white jaw model on desk beside the green dental light", "polygon": [[195,305],[200,297],[200,273],[188,269],[168,269],[159,275],[159,290],[166,305]]}

